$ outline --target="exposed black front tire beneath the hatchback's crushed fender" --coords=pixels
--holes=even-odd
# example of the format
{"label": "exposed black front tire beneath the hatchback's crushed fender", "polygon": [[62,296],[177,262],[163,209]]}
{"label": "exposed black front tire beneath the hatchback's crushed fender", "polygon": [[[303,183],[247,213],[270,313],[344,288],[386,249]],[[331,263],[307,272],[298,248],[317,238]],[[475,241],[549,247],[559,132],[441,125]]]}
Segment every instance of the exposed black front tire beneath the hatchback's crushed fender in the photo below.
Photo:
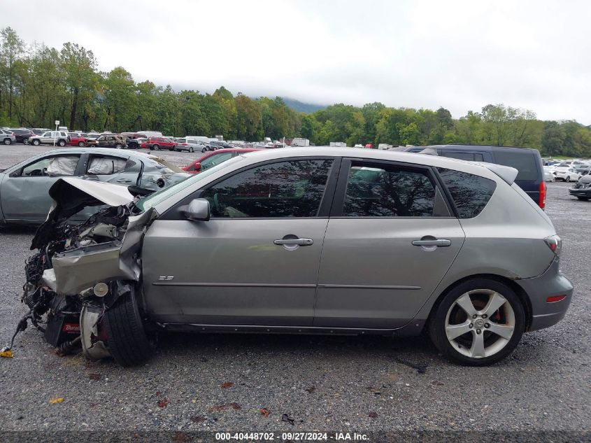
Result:
{"label": "exposed black front tire beneath the hatchback's crushed fender", "polygon": [[135,291],[106,311],[105,329],[108,349],[120,365],[140,365],[152,356],[154,346],[145,334]]}

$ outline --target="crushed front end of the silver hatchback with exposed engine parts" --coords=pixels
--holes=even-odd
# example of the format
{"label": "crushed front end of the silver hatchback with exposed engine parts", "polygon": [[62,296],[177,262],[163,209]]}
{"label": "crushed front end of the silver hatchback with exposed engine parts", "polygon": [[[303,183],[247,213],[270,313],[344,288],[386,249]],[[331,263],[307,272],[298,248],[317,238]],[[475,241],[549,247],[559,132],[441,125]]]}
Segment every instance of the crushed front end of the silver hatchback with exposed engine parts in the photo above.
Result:
{"label": "crushed front end of the silver hatchback with exposed engine parts", "polygon": [[[141,243],[154,212],[134,214],[134,196],[118,185],[61,178],[49,193],[54,204],[25,265],[22,302],[29,312],[12,342],[31,321],[58,353],[82,346],[87,357],[104,358],[110,355],[105,314],[122,297],[136,297]],[[104,205],[84,223],[69,222],[87,206]]]}

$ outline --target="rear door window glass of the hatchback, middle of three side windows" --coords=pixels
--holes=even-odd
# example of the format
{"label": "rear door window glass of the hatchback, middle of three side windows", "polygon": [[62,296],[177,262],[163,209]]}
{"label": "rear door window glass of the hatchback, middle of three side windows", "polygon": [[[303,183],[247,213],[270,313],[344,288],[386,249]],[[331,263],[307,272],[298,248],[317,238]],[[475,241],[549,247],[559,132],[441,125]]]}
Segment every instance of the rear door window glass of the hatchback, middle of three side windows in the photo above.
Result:
{"label": "rear door window glass of the hatchback, middle of three side windows", "polygon": [[343,216],[432,217],[435,196],[435,187],[427,171],[353,163]]}

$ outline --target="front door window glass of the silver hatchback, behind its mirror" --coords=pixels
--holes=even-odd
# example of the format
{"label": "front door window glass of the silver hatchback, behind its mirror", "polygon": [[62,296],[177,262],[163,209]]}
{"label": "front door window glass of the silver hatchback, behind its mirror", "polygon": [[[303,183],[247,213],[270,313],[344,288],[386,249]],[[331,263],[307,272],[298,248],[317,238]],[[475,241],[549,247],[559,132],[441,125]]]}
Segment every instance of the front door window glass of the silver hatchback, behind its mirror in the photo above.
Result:
{"label": "front door window glass of the silver hatchback, behind its mirror", "polygon": [[221,218],[315,217],[333,160],[264,164],[205,190],[211,216]]}

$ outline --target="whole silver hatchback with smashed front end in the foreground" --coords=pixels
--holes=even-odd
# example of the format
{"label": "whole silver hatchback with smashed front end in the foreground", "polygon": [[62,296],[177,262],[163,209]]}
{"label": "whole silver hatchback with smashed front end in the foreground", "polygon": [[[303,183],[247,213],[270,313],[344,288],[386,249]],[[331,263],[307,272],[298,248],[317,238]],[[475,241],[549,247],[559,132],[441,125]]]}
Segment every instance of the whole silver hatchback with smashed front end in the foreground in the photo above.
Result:
{"label": "whole silver hatchback with smashed front end in the foreground", "polygon": [[[426,330],[451,359],[488,365],[524,332],[560,321],[573,292],[560,238],[516,174],[316,147],[239,155],[143,198],[64,178],[50,190],[23,300],[49,312],[47,330],[80,313],[71,321],[86,355],[126,366],[152,355],[162,328]],[[64,227],[98,203],[111,207]],[[72,341],[53,330],[49,342]]]}

